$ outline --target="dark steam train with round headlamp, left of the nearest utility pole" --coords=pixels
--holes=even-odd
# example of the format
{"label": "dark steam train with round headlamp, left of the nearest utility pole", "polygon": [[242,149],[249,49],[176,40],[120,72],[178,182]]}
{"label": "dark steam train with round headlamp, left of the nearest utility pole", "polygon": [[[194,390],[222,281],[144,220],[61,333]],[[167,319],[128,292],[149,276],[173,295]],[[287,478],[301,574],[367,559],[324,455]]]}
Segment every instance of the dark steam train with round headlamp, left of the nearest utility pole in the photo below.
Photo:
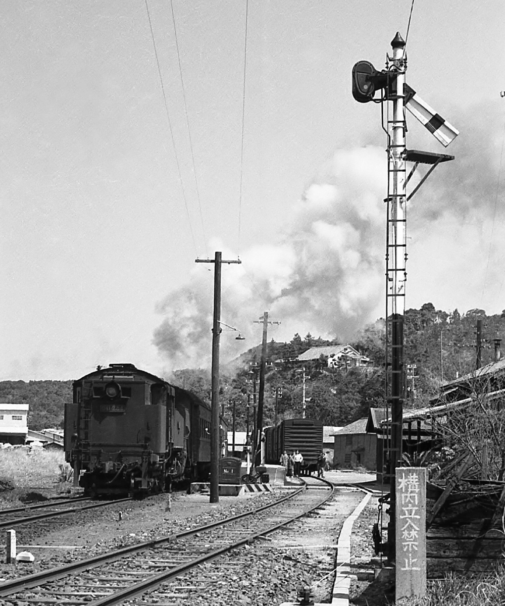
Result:
{"label": "dark steam train with round headlamp, left of the nearest utility pole", "polygon": [[92,496],[142,496],[210,471],[210,406],[133,364],[98,367],[65,405],[65,460]]}

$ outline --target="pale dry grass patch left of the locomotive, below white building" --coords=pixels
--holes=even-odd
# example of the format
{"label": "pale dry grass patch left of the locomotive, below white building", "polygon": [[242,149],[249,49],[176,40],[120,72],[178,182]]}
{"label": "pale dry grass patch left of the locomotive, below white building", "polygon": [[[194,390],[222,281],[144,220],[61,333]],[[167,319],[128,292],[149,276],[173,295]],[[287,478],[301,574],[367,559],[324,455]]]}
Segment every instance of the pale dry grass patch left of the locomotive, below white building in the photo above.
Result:
{"label": "pale dry grass patch left of the locomotive, below white building", "polygon": [[59,488],[61,490],[65,483],[69,482],[70,477],[70,468],[65,463],[62,450],[44,450],[44,448],[0,450],[0,499],[2,500],[15,501],[19,494],[27,489]]}

